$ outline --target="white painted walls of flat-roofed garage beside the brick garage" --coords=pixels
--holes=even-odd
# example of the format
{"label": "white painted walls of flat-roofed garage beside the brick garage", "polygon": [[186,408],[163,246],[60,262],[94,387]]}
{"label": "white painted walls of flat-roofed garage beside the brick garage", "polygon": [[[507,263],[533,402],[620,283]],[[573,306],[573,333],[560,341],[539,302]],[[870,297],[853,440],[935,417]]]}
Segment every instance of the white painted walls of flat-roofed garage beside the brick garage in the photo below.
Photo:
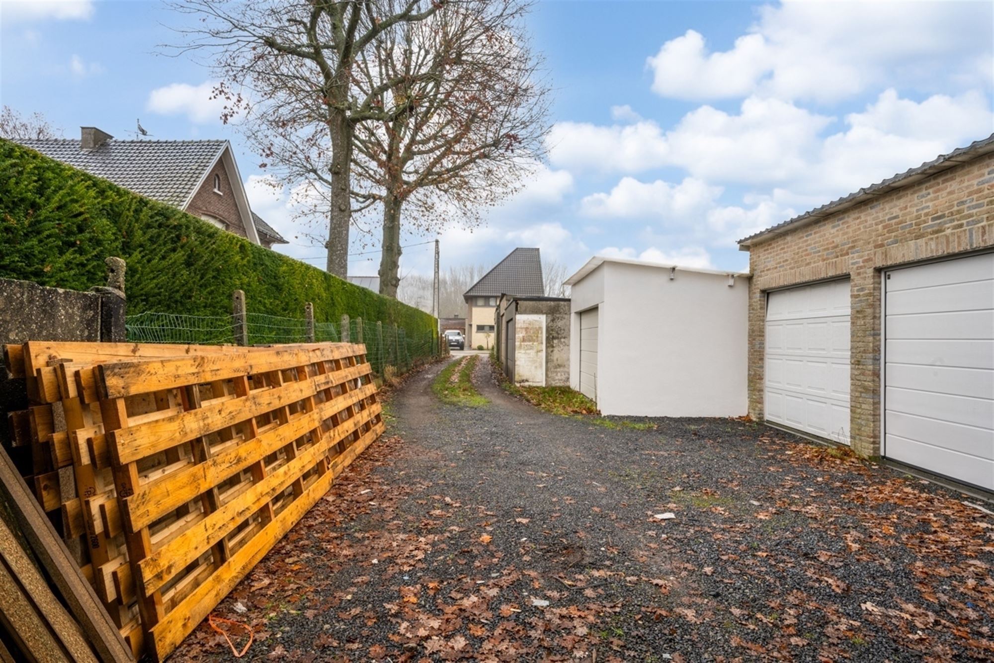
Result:
{"label": "white painted walls of flat-roofed garage beside the brick garage", "polygon": [[[597,406],[603,414],[746,414],[747,277],[604,261],[573,284],[571,383],[579,311],[600,307]],[[598,301],[599,300],[599,301]],[[574,389],[577,385],[574,385]]]}

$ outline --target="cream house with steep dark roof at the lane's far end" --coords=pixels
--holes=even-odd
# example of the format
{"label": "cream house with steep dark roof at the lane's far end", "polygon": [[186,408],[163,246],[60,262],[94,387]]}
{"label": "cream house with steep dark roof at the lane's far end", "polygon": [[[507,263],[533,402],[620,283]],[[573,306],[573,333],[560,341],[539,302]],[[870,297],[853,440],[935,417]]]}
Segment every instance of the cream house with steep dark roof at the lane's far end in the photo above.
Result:
{"label": "cream house with steep dark roof at the lane's far end", "polygon": [[514,249],[466,290],[466,343],[490,349],[496,338],[494,318],[502,294],[541,297],[546,293],[539,249]]}

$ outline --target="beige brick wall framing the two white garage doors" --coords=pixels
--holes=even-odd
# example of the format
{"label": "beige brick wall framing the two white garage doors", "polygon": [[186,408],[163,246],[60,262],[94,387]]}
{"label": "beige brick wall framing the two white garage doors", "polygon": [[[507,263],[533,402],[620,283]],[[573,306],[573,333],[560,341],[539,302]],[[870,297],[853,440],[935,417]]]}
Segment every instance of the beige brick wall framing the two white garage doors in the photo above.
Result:
{"label": "beige brick wall framing the two white garage doors", "polygon": [[849,276],[850,435],[880,454],[881,270],[994,247],[994,154],[881,195],[749,250],[749,414],[763,418],[766,292]]}

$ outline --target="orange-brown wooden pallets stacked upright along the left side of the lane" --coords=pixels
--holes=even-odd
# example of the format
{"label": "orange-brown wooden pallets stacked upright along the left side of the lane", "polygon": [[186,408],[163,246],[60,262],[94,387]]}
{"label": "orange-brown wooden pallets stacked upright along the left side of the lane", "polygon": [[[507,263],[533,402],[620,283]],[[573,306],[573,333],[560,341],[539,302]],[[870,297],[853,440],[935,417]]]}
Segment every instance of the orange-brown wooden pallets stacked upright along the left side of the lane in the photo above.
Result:
{"label": "orange-brown wooden pallets stacked upright along the left side of the lane", "polygon": [[6,346],[39,502],[162,659],[384,429],[363,345]]}

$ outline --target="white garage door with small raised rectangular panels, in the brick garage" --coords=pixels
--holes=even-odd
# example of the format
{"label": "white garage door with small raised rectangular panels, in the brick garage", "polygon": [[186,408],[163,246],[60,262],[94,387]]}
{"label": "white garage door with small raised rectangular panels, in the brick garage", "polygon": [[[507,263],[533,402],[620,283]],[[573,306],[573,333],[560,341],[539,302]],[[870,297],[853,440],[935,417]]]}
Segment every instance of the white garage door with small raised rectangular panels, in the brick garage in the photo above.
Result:
{"label": "white garage door with small raised rectangular panels, in the brick garage", "polygon": [[766,420],[849,443],[849,280],[770,292]]}

